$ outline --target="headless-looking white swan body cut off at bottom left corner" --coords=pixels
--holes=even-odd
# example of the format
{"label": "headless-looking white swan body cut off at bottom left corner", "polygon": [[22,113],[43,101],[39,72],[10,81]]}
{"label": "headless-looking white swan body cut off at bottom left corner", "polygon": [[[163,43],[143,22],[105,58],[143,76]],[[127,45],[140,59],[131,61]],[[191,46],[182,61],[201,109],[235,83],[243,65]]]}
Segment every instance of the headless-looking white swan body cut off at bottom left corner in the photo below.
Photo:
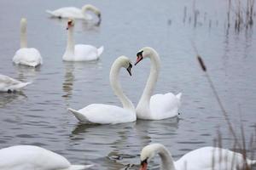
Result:
{"label": "headless-looking white swan body cut off at bottom left corner", "polygon": [[93,165],[71,165],[55,152],[34,145],[15,145],[0,150],[2,170],[82,170]]}

